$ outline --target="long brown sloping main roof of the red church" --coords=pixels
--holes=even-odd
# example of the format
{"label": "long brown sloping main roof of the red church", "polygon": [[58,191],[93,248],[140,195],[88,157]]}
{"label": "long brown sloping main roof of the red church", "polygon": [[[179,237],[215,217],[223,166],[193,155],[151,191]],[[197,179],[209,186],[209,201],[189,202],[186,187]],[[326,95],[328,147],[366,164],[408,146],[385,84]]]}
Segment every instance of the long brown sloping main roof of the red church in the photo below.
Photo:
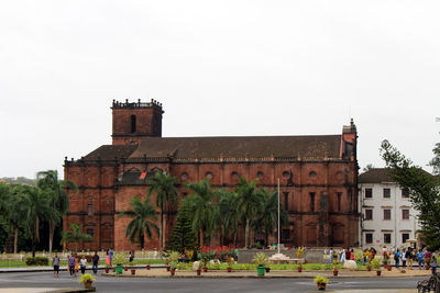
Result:
{"label": "long brown sloping main roof of the red church", "polygon": [[147,137],[130,158],[339,158],[341,135],[234,136],[234,137]]}

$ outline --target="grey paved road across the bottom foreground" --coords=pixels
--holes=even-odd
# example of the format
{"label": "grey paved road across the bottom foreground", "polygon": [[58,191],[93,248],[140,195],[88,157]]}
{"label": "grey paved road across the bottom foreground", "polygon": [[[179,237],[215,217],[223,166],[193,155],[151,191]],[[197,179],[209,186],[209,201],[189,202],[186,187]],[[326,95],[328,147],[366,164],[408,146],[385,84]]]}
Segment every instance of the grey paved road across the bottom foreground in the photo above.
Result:
{"label": "grey paved road across the bottom foreground", "polygon": [[[78,279],[78,278],[77,278]],[[0,292],[6,288],[80,288],[66,272],[53,278],[48,272],[2,273]],[[311,279],[161,279],[108,278],[97,275],[98,292],[317,292]],[[415,289],[426,278],[340,278],[331,279],[328,290]],[[416,292],[416,291],[415,291]]]}

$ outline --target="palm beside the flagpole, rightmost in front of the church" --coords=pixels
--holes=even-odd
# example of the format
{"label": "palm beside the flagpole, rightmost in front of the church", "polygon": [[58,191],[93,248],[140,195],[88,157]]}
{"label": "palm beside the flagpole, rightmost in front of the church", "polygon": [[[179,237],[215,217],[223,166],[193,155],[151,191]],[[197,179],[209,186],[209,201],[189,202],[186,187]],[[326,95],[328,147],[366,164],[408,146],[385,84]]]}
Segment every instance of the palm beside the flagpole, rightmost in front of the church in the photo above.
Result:
{"label": "palm beside the flagpole, rightmost in front of the church", "polygon": [[[268,235],[273,234],[278,226],[278,191],[272,192],[261,188],[258,190],[263,200],[263,213],[254,222],[254,227],[257,232],[264,230],[265,244],[268,244]],[[283,203],[279,202],[279,219],[280,226],[287,225],[287,213],[283,209]]]}

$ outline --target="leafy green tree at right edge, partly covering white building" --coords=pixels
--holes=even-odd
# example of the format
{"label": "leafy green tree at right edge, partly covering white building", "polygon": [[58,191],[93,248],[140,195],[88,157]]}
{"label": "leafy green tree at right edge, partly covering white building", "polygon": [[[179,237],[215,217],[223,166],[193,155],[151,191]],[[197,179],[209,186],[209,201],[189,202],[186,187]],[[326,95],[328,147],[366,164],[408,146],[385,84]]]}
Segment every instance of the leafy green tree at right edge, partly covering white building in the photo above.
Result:
{"label": "leafy green tree at right edge, partly covering white building", "polygon": [[[435,172],[440,170],[440,145],[437,144],[435,158],[430,165]],[[392,146],[388,140],[383,140],[381,145],[381,156],[389,168],[389,174],[400,188],[409,191],[409,199],[414,207],[420,212],[418,216],[421,225],[424,241],[430,249],[440,248],[440,182],[439,178],[424,171],[420,167],[413,164],[400,151]]]}

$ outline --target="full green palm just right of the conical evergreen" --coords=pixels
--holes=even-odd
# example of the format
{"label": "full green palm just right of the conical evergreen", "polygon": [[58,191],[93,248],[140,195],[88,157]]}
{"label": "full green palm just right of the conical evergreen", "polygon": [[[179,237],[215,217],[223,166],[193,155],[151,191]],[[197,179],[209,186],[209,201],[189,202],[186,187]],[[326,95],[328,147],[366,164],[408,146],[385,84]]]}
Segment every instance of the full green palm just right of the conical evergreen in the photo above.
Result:
{"label": "full green palm just right of the conical evergreen", "polygon": [[193,211],[193,229],[199,233],[199,243],[204,245],[204,238],[209,238],[220,217],[219,206],[216,204],[215,193],[208,179],[200,180],[198,183],[185,185],[193,193],[185,199]]}

